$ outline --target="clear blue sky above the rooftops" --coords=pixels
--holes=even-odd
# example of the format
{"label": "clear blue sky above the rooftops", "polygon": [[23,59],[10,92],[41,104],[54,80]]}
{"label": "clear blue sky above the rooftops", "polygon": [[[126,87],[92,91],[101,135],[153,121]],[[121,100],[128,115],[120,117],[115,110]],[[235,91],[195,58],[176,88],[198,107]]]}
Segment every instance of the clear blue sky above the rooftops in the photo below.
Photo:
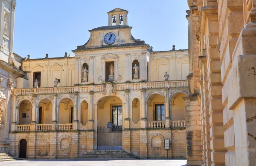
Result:
{"label": "clear blue sky above the rooftops", "polygon": [[74,55],[88,30],[108,26],[108,11],[128,10],[132,35],[154,51],[188,48],[186,0],[16,0],[14,52],[30,58]]}

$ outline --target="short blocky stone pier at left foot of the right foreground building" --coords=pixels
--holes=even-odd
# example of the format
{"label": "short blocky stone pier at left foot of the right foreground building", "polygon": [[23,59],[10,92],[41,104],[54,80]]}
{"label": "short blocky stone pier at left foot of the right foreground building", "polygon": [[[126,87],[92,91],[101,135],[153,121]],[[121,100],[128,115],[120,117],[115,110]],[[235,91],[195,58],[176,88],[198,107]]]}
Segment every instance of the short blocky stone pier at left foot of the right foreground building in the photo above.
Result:
{"label": "short blocky stone pier at left foot of the right foreground building", "polygon": [[201,145],[199,97],[191,96],[182,98],[185,101],[187,165],[201,166],[201,163],[203,162],[203,154]]}

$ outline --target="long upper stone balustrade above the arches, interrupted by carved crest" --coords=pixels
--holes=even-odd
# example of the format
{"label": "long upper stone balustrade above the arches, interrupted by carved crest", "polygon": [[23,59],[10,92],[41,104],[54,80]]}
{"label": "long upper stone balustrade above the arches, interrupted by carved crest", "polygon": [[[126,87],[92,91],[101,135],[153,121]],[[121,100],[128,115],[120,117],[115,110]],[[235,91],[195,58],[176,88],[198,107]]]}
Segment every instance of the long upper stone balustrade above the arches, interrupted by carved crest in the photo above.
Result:
{"label": "long upper stone balustrade above the arches, interrupted by carved crest", "polygon": [[[117,91],[140,90],[140,89],[159,89],[159,88],[187,88],[188,80],[177,81],[157,81],[157,82],[140,82],[140,83],[116,83]],[[66,87],[49,87],[49,88],[29,88],[29,89],[12,89],[14,95],[32,95],[32,94],[71,94],[75,92],[87,93],[93,90],[94,92],[103,92],[102,84],[98,85],[80,85]]]}

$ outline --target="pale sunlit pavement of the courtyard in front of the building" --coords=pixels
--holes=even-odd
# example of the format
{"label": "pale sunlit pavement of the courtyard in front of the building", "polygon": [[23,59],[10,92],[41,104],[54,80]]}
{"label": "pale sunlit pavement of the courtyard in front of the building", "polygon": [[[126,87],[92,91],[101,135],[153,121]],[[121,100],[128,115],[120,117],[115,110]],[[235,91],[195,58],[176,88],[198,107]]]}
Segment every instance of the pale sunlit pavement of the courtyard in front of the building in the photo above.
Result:
{"label": "pale sunlit pavement of the courtyard in front of the building", "polygon": [[186,160],[16,160],[1,162],[3,166],[186,166]]}

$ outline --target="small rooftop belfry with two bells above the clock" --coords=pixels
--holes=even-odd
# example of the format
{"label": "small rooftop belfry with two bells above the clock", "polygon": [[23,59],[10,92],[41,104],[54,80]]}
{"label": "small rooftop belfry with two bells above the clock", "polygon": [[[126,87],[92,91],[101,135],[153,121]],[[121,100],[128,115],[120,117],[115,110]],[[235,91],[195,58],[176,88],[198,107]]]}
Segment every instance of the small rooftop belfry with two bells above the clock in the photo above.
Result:
{"label": "small rooftop belfry with two bells above the clock", "polygon": [[128,11],[120,8],[108,12],[108,26],[127,26]]}

